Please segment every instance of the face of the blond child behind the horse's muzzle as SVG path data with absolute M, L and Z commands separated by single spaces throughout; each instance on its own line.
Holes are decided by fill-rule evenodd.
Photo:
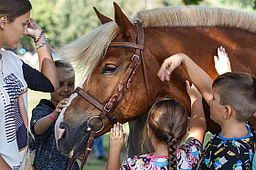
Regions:
M 59 77 L 59 88 L 50 94 L 53 105 L 58 105 L 64 98 L 69 98 L 72 90 L 74 90 L 75 77 L 70 77 L 70 72 L 65 69 L 57 68 Z

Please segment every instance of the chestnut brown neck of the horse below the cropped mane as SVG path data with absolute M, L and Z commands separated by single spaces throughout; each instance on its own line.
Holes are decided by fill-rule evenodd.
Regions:
M 179 66 L 172 74 L 170 83 L 157 79 L 157 71 L 165 58 L 184 53 L 215 79 L 218 74 L 213 56 L 223 45 L 229 53 L 232 71 L 256 74 L 256 34 L 235 27 L 193 26 L 145 28 L 144 57 L 150 82 L 155 84 L 155 97 L 172 95 L 177 100 L 189 104 L 185 81 L 189 79 L 185 70 Z M 250 54 L 248 54 L 250 52 Z M 248 62 L 246 62 L 248 61 Z M 247 66 L 246 66 L 247 65 Z M 187 105 L 189 107 L 189 105 Z

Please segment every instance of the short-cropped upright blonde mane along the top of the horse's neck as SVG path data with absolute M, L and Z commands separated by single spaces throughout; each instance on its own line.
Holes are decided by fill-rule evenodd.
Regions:
M 256 15 L 224 8 L 190 6 L 170 6 L 138 12 L 134 22 L 144 27 L 162 26 L 229 26 L 256 32 Z

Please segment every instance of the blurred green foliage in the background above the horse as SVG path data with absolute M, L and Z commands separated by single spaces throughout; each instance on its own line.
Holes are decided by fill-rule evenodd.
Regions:
M 114 18 L 111 0 L 30 0 L 31 17 L 46 31 L 51 46 L 60 47 L 86 35 L 100 25 L 93 6 L 103 15 Z M 239 9 L 255 13 L 256 0 L 115 0 L 123 13 L 133 17 L 138 11 L 169 5 L 203 5 Z M 24 37 L 19 44 L 27 50 L 35 49 L 31 38 Z

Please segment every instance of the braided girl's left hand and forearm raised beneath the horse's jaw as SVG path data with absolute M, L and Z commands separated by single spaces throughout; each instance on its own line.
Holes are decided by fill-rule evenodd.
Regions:
M 110 151 L 106 170 L 120 169 L 120 153 L 126 141 L 127 136 L 123 134 L 123 125 L 119 123 L 113 125 L 110 132 Z

